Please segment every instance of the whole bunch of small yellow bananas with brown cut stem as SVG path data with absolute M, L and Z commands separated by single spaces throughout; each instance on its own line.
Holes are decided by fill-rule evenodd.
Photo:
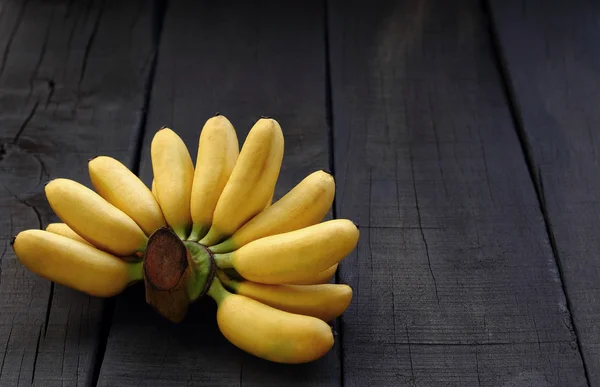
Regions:
M 142 281 L 152 283 L 149 303 L 148 292 L 177 286 L 186 302 L 208 294 L 219 329 L 242 350 L 280 363 L 318 359 L 334 344 L 328 322 L 352 298 L 349 286 L 329 282 L 359 231 L 347 219 L 323 221 L 335 194 L 324 170 L 272 203 L 283 150 L 276 120 L 259 119 L 240 150 L 230 121 L 216 115 L 194 166 L 182 139 L 162 128 L 151 143 L 151 187 L 119 161 L 93 158 L 94 190 L 50 181 L 46 197 L 62 223 L 20 232 L 13 249 L 37 275 L 96 297 Z M 175 245 L 158 237 L 165 230 Z

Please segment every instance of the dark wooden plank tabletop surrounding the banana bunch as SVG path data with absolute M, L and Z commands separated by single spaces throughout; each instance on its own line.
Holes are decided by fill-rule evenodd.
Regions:
M 285 3 L 285 4 L 282 4 Z M 0 2 L 0 386 L 600 386 L 600 3 Z M 270 115 L 276 199 L 328 168 L 361 228 L 334 350 L 229 344 L 142 286 L 90 298 L 11 236 L 57 221 L 44 183 L 110 155 L 149 184 L 163 125 L 195 158 L 214 112 Z M 598 156 L 600 157 L 600 156 Z

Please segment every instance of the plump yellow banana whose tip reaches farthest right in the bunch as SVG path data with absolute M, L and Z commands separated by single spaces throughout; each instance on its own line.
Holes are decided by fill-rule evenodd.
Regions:
M 354 249 L 358 237 L 354 223 L 334 219 L 266 236 L 233 252 L 215 254 L 214 258 L 220 268 L 233 268 L 253 282 L 305 281 L 341 261 Z

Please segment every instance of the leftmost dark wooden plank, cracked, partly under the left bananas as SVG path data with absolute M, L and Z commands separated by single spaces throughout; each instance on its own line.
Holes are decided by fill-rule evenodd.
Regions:
M 57 221 L 44 183 L 131 163 L 151 56 L 142 1 L 0 4 L 0 385 L 93 381 L 103 301 L 26 270 L 10 237 Z

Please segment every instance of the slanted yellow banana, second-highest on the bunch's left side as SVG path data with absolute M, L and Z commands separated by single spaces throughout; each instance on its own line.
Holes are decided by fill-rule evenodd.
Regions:
M 46 184 L 45 191 L 56 215 L 99 249 L 128 256 L 146 248 L 148 237 L 140 226 L 83 184 L 54 179 Z

